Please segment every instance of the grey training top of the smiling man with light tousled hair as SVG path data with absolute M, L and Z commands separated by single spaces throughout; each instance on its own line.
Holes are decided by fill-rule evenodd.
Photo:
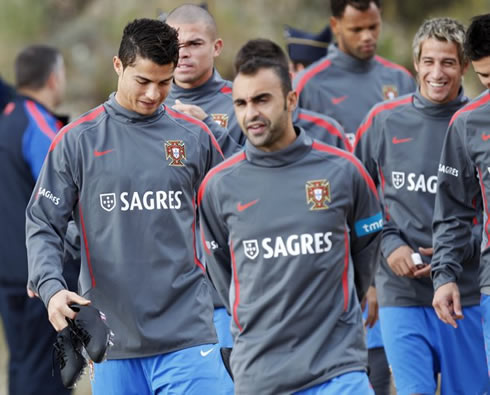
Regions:
M 384 203 L 382 254 L 408 245 L 432 247 L 432 216 L 439 157 L 454 113 L 468 102 L 462 92 L 435 104 L 419 91 L 375 106 L 360 126 L 354 152 L 373 177 Z M 430 257 L 422 257 L 430 263 Z M 479 303 L 478 261 L 460 278 L 462 302 Z M 397 276 L 382 259 L 376 272 L 381 306 L 432 306 L 429 278 Z

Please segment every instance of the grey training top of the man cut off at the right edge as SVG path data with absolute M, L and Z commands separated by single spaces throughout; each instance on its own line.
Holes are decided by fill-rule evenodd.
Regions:
M 478 258 L 481 239 L 480 286 L 490 287 L 490 91 L 459 110 L 451 120 L 442 149 L 434 212 L 434 288 L 467 274 L 476 279 L 468 261 Z M 475 200 L 483 200 L 483 232 L 475 235 Z

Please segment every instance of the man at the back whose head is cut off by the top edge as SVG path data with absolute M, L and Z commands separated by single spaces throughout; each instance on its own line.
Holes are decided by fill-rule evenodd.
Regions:
M 327 114 L 353 138 L 376 103 L 415 91 L 403 67 L 376 55 L 381 0 L 331 0 L 330 28 L 337 43 L 298 74 L 299 106 Z

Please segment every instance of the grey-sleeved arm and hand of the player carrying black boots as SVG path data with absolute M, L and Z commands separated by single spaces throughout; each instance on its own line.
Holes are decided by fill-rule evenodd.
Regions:
M 57 330 L 67 325 L 65 317 L 75 317 L 69 304 L 89 302 L 67 291 L 62 275 L 64 235 L 78 196 L 69 165 L 75 156 L 63 152 L 64 146 L 60 143 L 46 157 L 26 210 L 28 287 L 39 294 Z

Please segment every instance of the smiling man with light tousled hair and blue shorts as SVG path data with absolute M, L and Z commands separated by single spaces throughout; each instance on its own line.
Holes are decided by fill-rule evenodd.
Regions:
M 413 40 L 419 89 L 376 105 L 356 135 L 355 153 L 385 204 L 376 288 L 398 394 L 435 393 L 437 373 L 444 393 L 483 393 L 488 382 L 478 256 L 464 261 L 459 278 L 466 319 L 457 330 L 437 319 L 428 277 L 439 156 L 451 117 L 468 103 L 461 87 L 468 67 L 463 40 L 464 27 L 453 19 L 425 21 Z

